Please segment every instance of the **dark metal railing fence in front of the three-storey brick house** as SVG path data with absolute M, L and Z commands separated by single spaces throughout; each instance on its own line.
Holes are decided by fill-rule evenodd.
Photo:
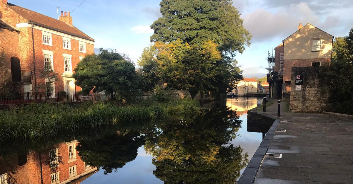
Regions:
M 55 103 L 55 102 L 82 102 L 110 100 L 110 95 L 105 93 L 91 93 L 83 95 L 80 92 L 27 92 L 15 94 L 0 94 L 0 104 L 24 104 L 24 103 Z

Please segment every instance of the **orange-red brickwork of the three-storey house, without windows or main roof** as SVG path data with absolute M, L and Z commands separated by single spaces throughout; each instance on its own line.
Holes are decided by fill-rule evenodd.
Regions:
M 7 5 L 2 3 L 2 1 L 0 1 L 0 18 L 13 27 L 16 27 L 18 23 L 28 22 L 28 20 L 19 16 L 15 11 L 13 11 L 13 9 L 9 8 Z M 71 39 L 71 50 L 63 49 L 62 36 L 56 34 L 52 34 L 53 46 L 43 45 L 42 31 L 34 29 L 33 34 L 36 66 L 36 71 L 34 71 L 32 28 L 20 27 L 18 28 L 18 30 L 20 31 L 20 33 L 15 36 L 14 33 L 16 32 L 9 34 L 7 33 L 7 30 L 3 31 L 2 29 L 0 29 L 0 42 L 6 42 L 5 44 L 0 43 L 0 49 L 3 47 L 5 52 L 8 53 L 9 57 L 10 55 L 11 57 L 16 55 L 16 57 L 20 59 L 21 70 L 32 71 L 32 73 L 37 76 L 37 84 L 45 83 L 44 79 L 38 77 L 38 75 L 41 71 L 43 71 L 44 68 L 44 58 L 42 50 L 53 51 L 54 71 L 59 73 L 59 81 L 55 82 L 56 92 L 64 90 L 64 81 L 63 77 L 61 76 L 64 73 L 64 56 L 62 56 L 62 54 L 66 53 L 72 55 L 72 70 L 74 70 L 77 63 L 79 62 L 79 57 L 84 57 L 87 54 L 94 53 L 94 45 L 88 43 L 86 43 L 86 53 L 79 52 L 79 41 L 74 39 Z M 10 65 L 9 69 L 11 69 Z M 33 79 L 32 81 L 32 88 L 34 88 L 34 81 L 35 79 Z M 81 88 L 76 87 L 76 91 L 79 90 L 81 90 Z

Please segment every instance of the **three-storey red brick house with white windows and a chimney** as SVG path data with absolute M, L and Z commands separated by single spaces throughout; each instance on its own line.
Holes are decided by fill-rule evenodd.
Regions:
M 94 39 L 72 23 L 70 12 L 61 12 L 57 20 L 0 0 L 0 51 L 6 53 L 12 80 L 21 84 L 19 91 L 46 84 L 39 77 L 44 68 L 59 74 L 52 85 L 55 92 L 80 90 L 74 84 L 73 69 L 85 55 L 94 53 Z

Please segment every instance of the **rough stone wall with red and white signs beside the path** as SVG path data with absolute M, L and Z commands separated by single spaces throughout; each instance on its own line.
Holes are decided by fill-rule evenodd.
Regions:
M 291 102 L 292 112 L 321 112 L 326 108 L 329 97 L 328 86 L 320 84 L 318 77 L 320 67 L 293 67 L 291 81 Z M 296 90 L 296 75 L 303 75 L 301 91 Z

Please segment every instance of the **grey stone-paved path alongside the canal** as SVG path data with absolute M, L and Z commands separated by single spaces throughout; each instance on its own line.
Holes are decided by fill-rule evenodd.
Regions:
M 272 99 L 271 99 L 272 100 Z M 256 176 L 256 184 L 353 184 L 353 118 L 319 113 L 288 113 L 282 102 L 281 120 Z M 267 108 L 277 115 L 277 103 Z

